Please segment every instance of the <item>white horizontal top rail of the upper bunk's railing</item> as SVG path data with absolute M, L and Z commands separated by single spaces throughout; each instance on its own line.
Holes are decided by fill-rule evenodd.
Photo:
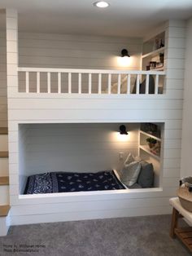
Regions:
M 155 70 L 113 70 L 113 69 L 77 69 L 77 68 L 24 68 L 19 67 L 19 72 L 45 72 L 45 73 L 103 73 L 103 74 L 141 74 L 165 75 L 164 71 Z

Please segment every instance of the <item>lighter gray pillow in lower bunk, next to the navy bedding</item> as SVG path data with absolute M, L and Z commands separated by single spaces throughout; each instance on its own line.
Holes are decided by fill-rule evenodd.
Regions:
M 130 187 L 137 182 L 138 174 L 141 170 L 141 164 L 137 161 L 129 163 L 129 165 L 124 165 L 123 170 L 119 171 L 120 180 L 126 186 Z

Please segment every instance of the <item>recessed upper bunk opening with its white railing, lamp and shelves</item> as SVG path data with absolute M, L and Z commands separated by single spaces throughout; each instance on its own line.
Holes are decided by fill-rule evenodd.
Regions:
M 43 38 L 42 35 L 38 37 Z M 94 95 L 102 99 L 104 95 L 105 99 L 111 96 L 135 99 L 135 95 L 151 95 L 155 99 L 165 93 L 164 32 L 146 42 L 141 38 L 105 37 L 81 37 L 74 42 L 74 36 L 55 37 L 53 41 L 46 35 L 52 43 L 46 42 L 47 49 L 41 48 L 37 35 L 29 35 L 35 44 L 33 47 L 26 42 L 27 38 L 28 35 L 23 34 L 19 40 L 18 92 L 22 97 L 28 94 L 33 98 L 49 97 L 51 94 L 51 97 Z M 85 42 L 88 40 L 92 42 Z M 110 51 L 106 49 L 109 42 Z M 129 51 L 123 49 L 120 56 L 119 47 L 123 45 L 128 45 Z M 91 47 L 94 47 L 92 52 Z

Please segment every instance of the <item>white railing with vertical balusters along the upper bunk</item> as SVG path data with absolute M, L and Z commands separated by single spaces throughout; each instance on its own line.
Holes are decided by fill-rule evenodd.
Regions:
M 76 82 L 76 86 L 78 86 L 78 89 L 76 91 L 76 93 L 79 94 L 83 94 L 83 75 L 82 74 L 86 74 L 88 76 L 88 92 L 85 93 L 89 93 L 89 95 L 92 94 L 92 92 L 95 92 L 95 90 L 98 90 L 98 94 L 100 95 L 102 93 L 102 90 L 105 89 L 106 93 L 108 95 L 111 94 L 111 90 L 112 90 L 112 86 L 113 86 L 113 75 L 117 77 L 117 82 L 116 82 L 116 94 L 120 95 L 122 92 L 124 92 L 125 94 L 131 94 L 131 90 L 132 90 L 132 78 L 136 77 L 136 86 L 134 86 L 134 89 L 136 87 L 135 93 L 137 95 L 140 94 L 140 81 L 141 78 L 143 76 L 145 76 L 145 80 L 146 80 L 146 84 L 145 84 L 145 90 L 144 93 L 146 95 L 149 95 L 150 93 L 150 89 L 151 89 L 151 76 L 154 77 L 155 80 L 155 95 L 158 95 L 159 93 L 161 93 L 159 91 L 160 89 L 164 89 L 163 92 L 165 92 L 165 88 L 164 88 L 164 81 L 163 78 L 166 76 L 165 72 L 155 72 L 155 71 L 118 71 L 118 70 L 92 70 L 92 69 L 69 69 L 69 68 L 18 68 L 18 72 L 22 73 L 22 75 L 24 76 L 22 79 L 22 82 L 24 82 L 24 91 L 26 93 L 29 93 L 31 88 L 31 73 L 33 73 L 33 75 L 35 76 L 35 91 L 38 93 L 41 93 L 41 73 L 43 73 L 43 75 L 45 74 L 46 76 L 46 91 L 47 93 L 51 93 L 52 90 L 54 88 L 52 88 L 53 85 L 51 85 L 52 82 L 52 77 L 51 77 L 51 73 L 57 73 L 57 82 L 56 82 L 56 92 L 61 94 L 62 93 L 62 82 L 63 82 L 63 73 L 67 76 L 67 93 L 71 94 L 72 93 L 72 89 L 73 89 L 73 84 L 72 84 L 72 74 L 75 73 L 76 76 L 78 76 L 78 82 Z M 94 80 L 94 76 L 97 78 L 98 77 L 98 84 L 96 82 L 95 85 L 95 81 Z M 103 78 L 107 78 L 107 79 L 103 79 Z M 123 79 L 122 79 L 123 78 Z M 162 78 L 162 79 L 161 79 Z M 165 78 L 164 78 L 165 79 Z M 19 80 L 20 82 L 20 80 Z M 34 81 L 33 81 L 34 82 Z M 104 85 L 103 82 L 106 82 L 106 84 Z M 122 82 L 123 82 L 123 87 L 122 87 Z M 94 86 L 94 87 L 93 87 Z M 105 86 L 105 88 L 103 88 L 103 86 Z M 161 87 L 159 87 L 161 86 Z M 96 87 L 96 88 L 95 88 Z M 94 89 L 94 91 L 93 91 Z M 19 85 L 19 90 L 20 90 L 20 85 Z M 34 91 L 34 90 L 33 90 Z

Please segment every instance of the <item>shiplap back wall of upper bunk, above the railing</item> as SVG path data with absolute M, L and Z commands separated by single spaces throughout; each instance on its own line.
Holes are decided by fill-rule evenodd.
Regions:
M 19 33 L 19 65 L 42 68 L 122 69 L 124 48 L 131 55 L 128 67 L 141 68 L 142 39 Z

